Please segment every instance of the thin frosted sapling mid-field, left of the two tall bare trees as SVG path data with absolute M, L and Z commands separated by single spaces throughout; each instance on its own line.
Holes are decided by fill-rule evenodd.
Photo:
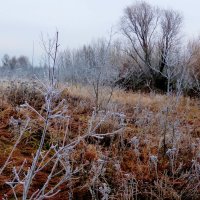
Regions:
M 102 102 L 106 99 L 105 96 L 103 97 L 106 90 L 109 90 L 107 91 L 109 92 L 107 99 L 109 102 L 114 88 L 112 84 L 113 77 L 111 76 L 114 70 L 112 70 L 112 64 L 109 59 L 111 53 L 111 38 L 109 41 L 98 40 L 92 46 L 89 46 L 86 52 L 86 61 L 89 66 L 88 70 L 90 71 L 90 76 L 87 77 L 87 81 L 93 88 L 92 93 L 94 95 L 95 107 L 99 110 Z

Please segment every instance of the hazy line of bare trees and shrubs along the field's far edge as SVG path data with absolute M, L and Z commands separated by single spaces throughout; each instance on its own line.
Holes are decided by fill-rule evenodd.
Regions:
M 136 2 L 125 8 L 119 34 L 59 52 L 56 79 L 81 84 L 114 85 L 129 90 L 200 94 L 200 40 L 183 37 L 183 17 L 174 10 Z M 45 44 L 52 47 L 52 44 Z M 49 49 L 49 48 L 46 48 Z M 51 61 L 33 67 L 25 57 L 2 60 L 4 71 L 22 70 L 48 77 Z M 19 74 L 19 72 L 18 72 Z

